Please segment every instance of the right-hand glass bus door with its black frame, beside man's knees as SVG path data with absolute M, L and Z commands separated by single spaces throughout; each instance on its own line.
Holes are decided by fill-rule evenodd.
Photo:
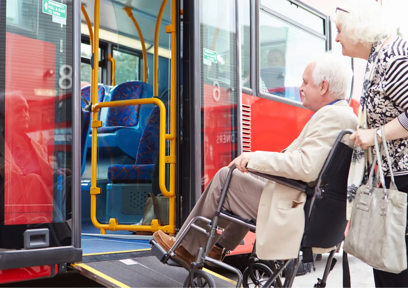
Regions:
M 183 41 L 194 49 L 184 51 L 186 87 L 183 88 L 183 96 L 189 98 L 189 102 L 195 101 L 197 108 L 191 109 L 190 113 L 194 114 L 191 113 L 190 118 L 184 113 L 183 121 L 184 118 L 186 120 L 183 122 L 183 130 L 200 133 L 188 137 L 192 139 L 190 147 L 191 151 L 195 149 L 196 163 L 195 167 L 191 167 L 191 172 L 184 171 L 190 179 L 195 177 L 195 183 L 198 183 L 198 186 L 190 188 L 194 201 L 198 200 L 215 173 L 228 165 L 240 152 L 238 111 L 241 91 L 237 69 L 235 2 L 200 0 L 184 7 L 184 24 L 188 21 L 189 25 L 184 26 Z M 199 9 L 194 5 L 198 5 Z M 195 11 L 200 13 L 196 15 Z M 194 35 L 188 32 L 197 29 L 199 33 Z M 196 77 L 191 78 L 190 75 Z M 191 99 L 192 95 L 194 99 Z M 193 129 L 186 129 L 192 125 L 189 123 L 196 123 L 191 127 Z M 197 151 L 195 147 L 197 139 L 200 141 L 201 151 Z M 189 161 L 186 159 L 187 163 Z M 182 169 L 189 167 L 184 163 L 181 166 Z M 188 188 L 183 187 L 184 189 Z M 191 204 L 190 209 L 194 203 Z

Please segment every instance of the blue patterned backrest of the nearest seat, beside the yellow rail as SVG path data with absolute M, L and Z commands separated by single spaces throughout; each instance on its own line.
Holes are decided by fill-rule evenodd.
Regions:
M 166 133 L 169 133 L 169 121 L 167 119 L 167 115 L 170 113 L 170 107 L 168 103 L 164 103 L 164 106 L 166 107 Z M 135 164 L 154 164 L 156 156 L 159 152 L 159 141 L 160 108 L 159 106 L 155 105 L 150 113 L 149 120 L 144 127 L 142 137 L 140 138 Z

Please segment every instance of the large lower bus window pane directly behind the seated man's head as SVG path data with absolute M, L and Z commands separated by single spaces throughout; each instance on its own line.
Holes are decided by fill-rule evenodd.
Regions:
M 304 68 L 315 56 L 325 51 L 326 38 L 259 11 L 261 93 L 301 101 L 298 87 L 302 82 Z

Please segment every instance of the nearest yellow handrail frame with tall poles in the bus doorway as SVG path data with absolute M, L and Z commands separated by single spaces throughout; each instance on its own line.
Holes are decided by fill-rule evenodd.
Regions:
M 106 234 L 106 230 L 116 231 L 116 230 L 137 230 L 137 231 L 157 231 L 163 230 L 167 233 L 175 233 L 175 109 L 171 109 L 171 133 L 166 134 L 166 108 L 162 100 L 158 98 L 142 98 L 142 99 L 131 99 L 131 100 L 121 100 L 121 101 L 108 101 L 98 103 L 98 59 L 99 59 L 99 7 L 100 0 L 95 0 L 95 20 L 94 20 L 94 69 L 93 69 L 93 83 L 91 83 L 91 88 L 93 91 L 93 106 L 92 106 L 92 148 L 91 148 L 91 221 L 95 227 L 100 229 L 101 234 Z M 172 33 L 171 45 L 172 45 L 172 63 L 171 63 L 171 103 L 175 103 L 175 89 L 176 89 L 176 31 L 175 31 L 175 1 L 173 1 L 173 11 L 172 11 L 172 25 L 169 25 L 169 30 L 167 32 Z M 155 84 L 157 87 L 157 66 L 158 66 L 158 32 L 160 30 L 160 22 L 162 19 L 164 7 L 166 6 L 167 0 L 163 0 L 162 6 L 160 7 L 159 16 L 156 22 L 155 33 Z M 159 24 L 157 24 L 159 23 Z M 157 95 L 157 91 L 156 94 Z M 162 194 L 169 198 L 169 225 L 160 226 L 157 219 L 154 219 L 151 225 L 119 225 L 118 220 L 111 218 L 109 224 L 101 224 L 98 222 L 96 216 L 96 196 L 101 193 L 101 189 L 97 187 L 97 152 L 98 152 L 98 127 L 102 126 L 102 122 L 98 121 L 98 111 L 105 107 L 120 107 L 129 105 L 144 105 L 144 104 L 156 104 L 160 109 L 160 140 L 159 140 L 159 186 Z M 170 155 L 165 156 L 165 145 L 166 140 L 170 140 Z M 166 189 L 165 183 L 165 163 L 170 164 L 170 185 L 169 191 Z

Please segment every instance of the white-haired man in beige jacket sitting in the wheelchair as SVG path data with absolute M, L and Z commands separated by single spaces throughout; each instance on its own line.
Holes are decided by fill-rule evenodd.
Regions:
M 282 152 L 244 152 L 228 167 L 215 174 L 211 183 L 198 200 L 180 232 L 196 216 L 212 218 L 224 186 L 229 167 L 237 166 L 226 194 L 223 210 L 251 220 L 257 219 L 257 255 L 261 259 L 293 259 L 297 257 L 304 232 L 304 203 L 306 195 L 273 181 L 265 183 L 246 171 L 283 176 L 313 183 L 333 147 L 335 139 L 344 129 L 356 129 L 357 116 L 345 100 L 348 98 L 352 71 L 342 59 L 327 53 L 310 63 L 303 74 L 300 92 L 303 105 L 315 112 L 300 135 Z M 276 137 L 279 135 L 275 135 Z M 273 137 L 275 137 L 273 136 Z M 351 141 L 346 141 L 351 145 Z M 273 141 L 273 138 L 271 138 Z M 236 223 L 220 219 L 218 225 L 225 228 L 216 234 L 209 257 L 221 259 L 225 249 L 235 249 L 244 239 L 248 229 Z M 206 225 L 202 225 L 207 228 Z M 163 248 L 170 249 L 175 237 L 157 231 L 153 238 Z M 178 261 L 188 269 L 199 247 L 205 246 L 207 236 L 190 230 L 176 250 Z M 314 253 L 322 250 L 313 249 Z

